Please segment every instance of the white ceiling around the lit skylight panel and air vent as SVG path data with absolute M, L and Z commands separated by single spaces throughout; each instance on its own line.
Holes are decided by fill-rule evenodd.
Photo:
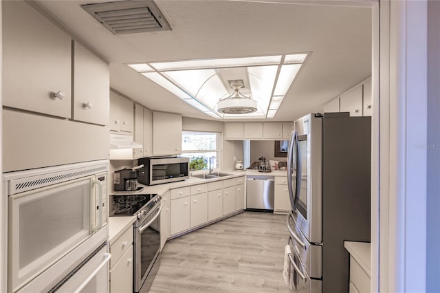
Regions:
M 153 110 L 213 119 L 126 63 L 311 52 L 274 121 L 322 111 L 325 102 L 371 76 L 368 7 L 304 4 L 322 1 L 159 0 L 155 3 L 173 30 L 113 35 L 80 8 L 108 0 L 38 2 L 109 61 L 113 89 Z

